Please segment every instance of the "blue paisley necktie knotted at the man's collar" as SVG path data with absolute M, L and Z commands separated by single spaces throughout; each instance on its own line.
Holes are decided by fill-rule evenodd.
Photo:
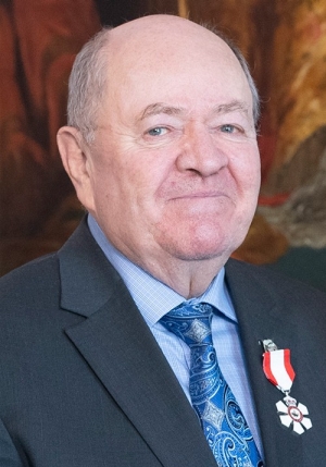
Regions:
M 184 303 L 161 318 L 190 347 L 190 396 L 218 467 L 263 467 L 251 431 L 213 346 L 209 304 Z

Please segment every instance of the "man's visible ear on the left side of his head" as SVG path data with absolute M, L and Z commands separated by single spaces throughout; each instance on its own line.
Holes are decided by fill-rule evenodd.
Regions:
M 57 135 L 63 167 L 73 182 L 79 201 L 89 211 L 93 208 L 93 193 L 90 173 L 90 151 L 78 130 L 63 126 Z

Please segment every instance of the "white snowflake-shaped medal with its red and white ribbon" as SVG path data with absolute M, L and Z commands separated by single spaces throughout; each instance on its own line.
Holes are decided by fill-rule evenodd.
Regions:
M 276 404 L 281 425 L 292 428 L 297 434 L 302 434 L 312 427 L 305 405 L 297 403 L 290 396 L 296 377 L 290 360 L 290 349 L 278 349 L 269 339 L 262 341 L 264 347 L 263 370 L 267 380 L 285 394 L 283 401 Z

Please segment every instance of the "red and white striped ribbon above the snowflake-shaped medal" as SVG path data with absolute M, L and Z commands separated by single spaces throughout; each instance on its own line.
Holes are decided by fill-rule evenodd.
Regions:
M 263 370 L 268 381 L 284 393 L 289 393 L 296 377 L 290 361 L 290 349 L 265 352 Z

